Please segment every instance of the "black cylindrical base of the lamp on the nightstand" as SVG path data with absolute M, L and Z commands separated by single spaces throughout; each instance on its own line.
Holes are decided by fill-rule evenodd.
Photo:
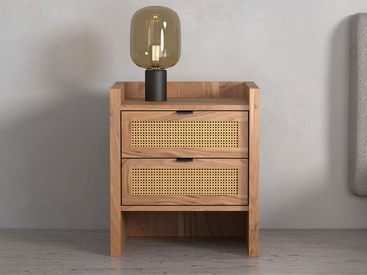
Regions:
M 146 101 L 167 100 L 166 70 L 145 71 L 145 100 Z

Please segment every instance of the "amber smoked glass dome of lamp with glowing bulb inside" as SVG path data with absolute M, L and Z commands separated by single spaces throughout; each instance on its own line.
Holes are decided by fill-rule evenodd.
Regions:
M 181 55 L 181 26 L 173 10 L 151 6 L 138 10 L 130 25 L 130 56 L 139 67 L 163 70 Z

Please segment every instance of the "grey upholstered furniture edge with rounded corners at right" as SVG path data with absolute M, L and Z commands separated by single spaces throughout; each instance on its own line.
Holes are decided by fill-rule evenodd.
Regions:
M 352 194 L 367 196 L 367 13 L 350 29 L 349 181 Z

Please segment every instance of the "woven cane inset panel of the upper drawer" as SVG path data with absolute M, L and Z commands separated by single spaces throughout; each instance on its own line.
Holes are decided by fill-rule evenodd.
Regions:
M 238 147 L 238 122 L 133 121 L 132 147 Z

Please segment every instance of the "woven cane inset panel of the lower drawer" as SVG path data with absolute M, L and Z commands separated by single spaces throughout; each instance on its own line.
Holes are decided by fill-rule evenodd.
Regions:
M 238 169 L 132 169 L 132 195 L 238 195 Z

